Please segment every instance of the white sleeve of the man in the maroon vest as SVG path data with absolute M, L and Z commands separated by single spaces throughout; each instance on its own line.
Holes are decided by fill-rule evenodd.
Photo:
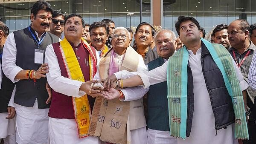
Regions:
M 45 63 L 48 63 L 49 65 L 49 72 L 46 74 L 48 84 L 55 92 L 77 98 L 85 95 L 84 91 L 79 91 L 83 82 L 71 80 L 61 75 L 61 69 L 58 65 L 58 59 L 52 45 L 49 45 L 46 48 Z

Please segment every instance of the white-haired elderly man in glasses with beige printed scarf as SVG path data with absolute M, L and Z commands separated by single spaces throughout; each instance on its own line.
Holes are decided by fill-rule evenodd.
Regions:
M 143 58 L 130 46 L 131 35 L 126 28 L 117 27 L 111 42 L 113 48 L 99 61 L 94 79 L 104 80 L 123 69 L 129 72 L 146 70 Z M 96 98 L 89 134 L 113 144 L 146 144 L 142 97 L 147 89 L 134 87 L 117 92 L 121 93 L 122 97 L 111 101 L 103 97 Z

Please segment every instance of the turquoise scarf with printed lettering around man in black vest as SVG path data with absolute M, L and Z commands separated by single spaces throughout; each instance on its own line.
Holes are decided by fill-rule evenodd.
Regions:
M 202 38 L 201 41 L 205 44 L 220 69 L 227 91 L 233 101 L 235 137 L 249 139 L 243 95 L 230 53 L 217 44 L 211 44 Z M 170 135 L 183 139 L 186 138 L 188 61 L 189 53 L 186 46 L 183 46 L 169 58 L 167 72 Z

